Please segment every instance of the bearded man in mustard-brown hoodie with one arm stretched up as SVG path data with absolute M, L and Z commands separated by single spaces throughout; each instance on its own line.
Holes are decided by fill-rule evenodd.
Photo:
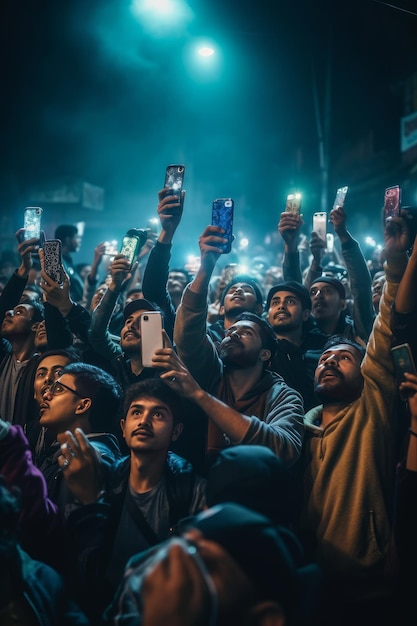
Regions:
M 365 358 L 359 343 L 332 337 L 315 373 L 322 405 L 304 419 L 299 530 L 326 578 L 323 624 L 395 621 L 384 621 L 395 607 L 386 572 L 399 427 L 390 319 L 408 239 L 402 218 L 385 227 L 386 283 Z

